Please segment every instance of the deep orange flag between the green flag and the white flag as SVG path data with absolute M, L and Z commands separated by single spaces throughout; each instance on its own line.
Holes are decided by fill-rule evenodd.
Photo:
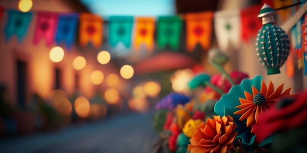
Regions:
M 189 13 L 186 20 L 186 49 L 192 52 L 199 43 L 204 50 L 209 49 L 212 34 L 213 12 Z

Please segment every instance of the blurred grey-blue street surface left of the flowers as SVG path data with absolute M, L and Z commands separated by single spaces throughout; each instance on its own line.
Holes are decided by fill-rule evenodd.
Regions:
M 157 134 L 153 112 L 118 114 L 103 121 L 71 125 L 0 140 L 0 153 L 152 153 Z

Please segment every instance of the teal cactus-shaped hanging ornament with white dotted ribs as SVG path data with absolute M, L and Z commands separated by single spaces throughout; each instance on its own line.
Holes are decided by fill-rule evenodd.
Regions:
M 262 18 L 262 27 L 256 37 L 257 56 L 267 74 L 281 73 L 280 68 L 290 53 L 290 41 L 287 33 L 274 24 L 273 15 L 276 11 L 264 4 L 258 18 Z

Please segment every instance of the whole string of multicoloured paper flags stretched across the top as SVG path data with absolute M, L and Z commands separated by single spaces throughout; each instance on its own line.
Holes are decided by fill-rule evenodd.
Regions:
M 281 25 L 285 31 L 289 31 L 299 22 L 299 19 L 307 11 L 305 0 L 295 3 L 292 3 L 292 0 L 291 3 L 290 0 L 283 0 L 281 6 L 277 4 L 276 0 L 261 0 L 261 2 L 276 6 L 278 8 L 275 10 L 279 11 L 302 5 L 293 17 Z M 197 44 L 200 44 L 203 50 L 208 50 L 213 29 L 219 47 L 221 50 L 227 51 L 229 43 L 237 48 L 240 42 L 248 42 L 250 38 L 255 38 L 256 29 L 261 23 L 260 19 L 256 18 L 258 11 L 259 4 L 255 4 L 242 10 L 189 13 L 157 18 L 111 16 L 109 20 L 104 20 L 102 17 L 91 13 L 48 11 L 23 13 L 0 6 L 0 19 L 3 16 L 3 12 L 8 14 L 4 32 L 7 41 L 13 35 L 16 35 L 21 43 L 27 34 L 31 19 L 35 16 L 37 20 L 33 44 L 38 44 L 44 39 L 47 46 L 55 42 L 56 44 L 65 44 L 70 49 L 74 44 L 76 34 L 78 34 L 78 44 L 80 46 L 86 46 L 91 43 L 96 48 L 100 48 L 103 41 L 103 26 L 108 24 L 108 41 L 111 46 L 116 46 L 119 42 L 122 42 L 126 47 L 130 47 L 130 44 L 133 44 L 134 49 L 139 50 L 141 45 L 145 45 L 149 51 L 153 50 L 154 41 L 156 41 L 159 49 L 169 45 L 173 50 L 178 50 L 182 24 L 185 23 L 186 50 L 188 52 L 192 52 Z M 290 13 L 290 11 L 284 12 Z M 78 32 L 77 27 L 79 27 Z M 299 48 L 300 45 L 295 44 L 296 48 Z

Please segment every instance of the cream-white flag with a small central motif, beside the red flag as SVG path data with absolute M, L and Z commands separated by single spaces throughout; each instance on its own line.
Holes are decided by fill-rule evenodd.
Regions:
M 241 36 L 240 10 L 217 11 L 214 14 L 214 31 L 219 48 L 227 51 L 228 43 L 238 48 Z

